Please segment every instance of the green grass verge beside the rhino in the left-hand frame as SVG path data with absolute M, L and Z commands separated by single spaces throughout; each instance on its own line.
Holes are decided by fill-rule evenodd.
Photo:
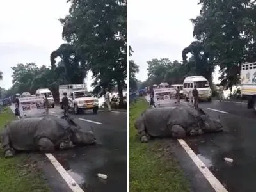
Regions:
M 0 131 L 15 116 L 9 108 L 0 111 Z M 5 159 L 0 147 L 0 189 L 4 192 L 46 192 L 50 191 L 42 173 L 27 154 L 17 154 L 12 159 Z

